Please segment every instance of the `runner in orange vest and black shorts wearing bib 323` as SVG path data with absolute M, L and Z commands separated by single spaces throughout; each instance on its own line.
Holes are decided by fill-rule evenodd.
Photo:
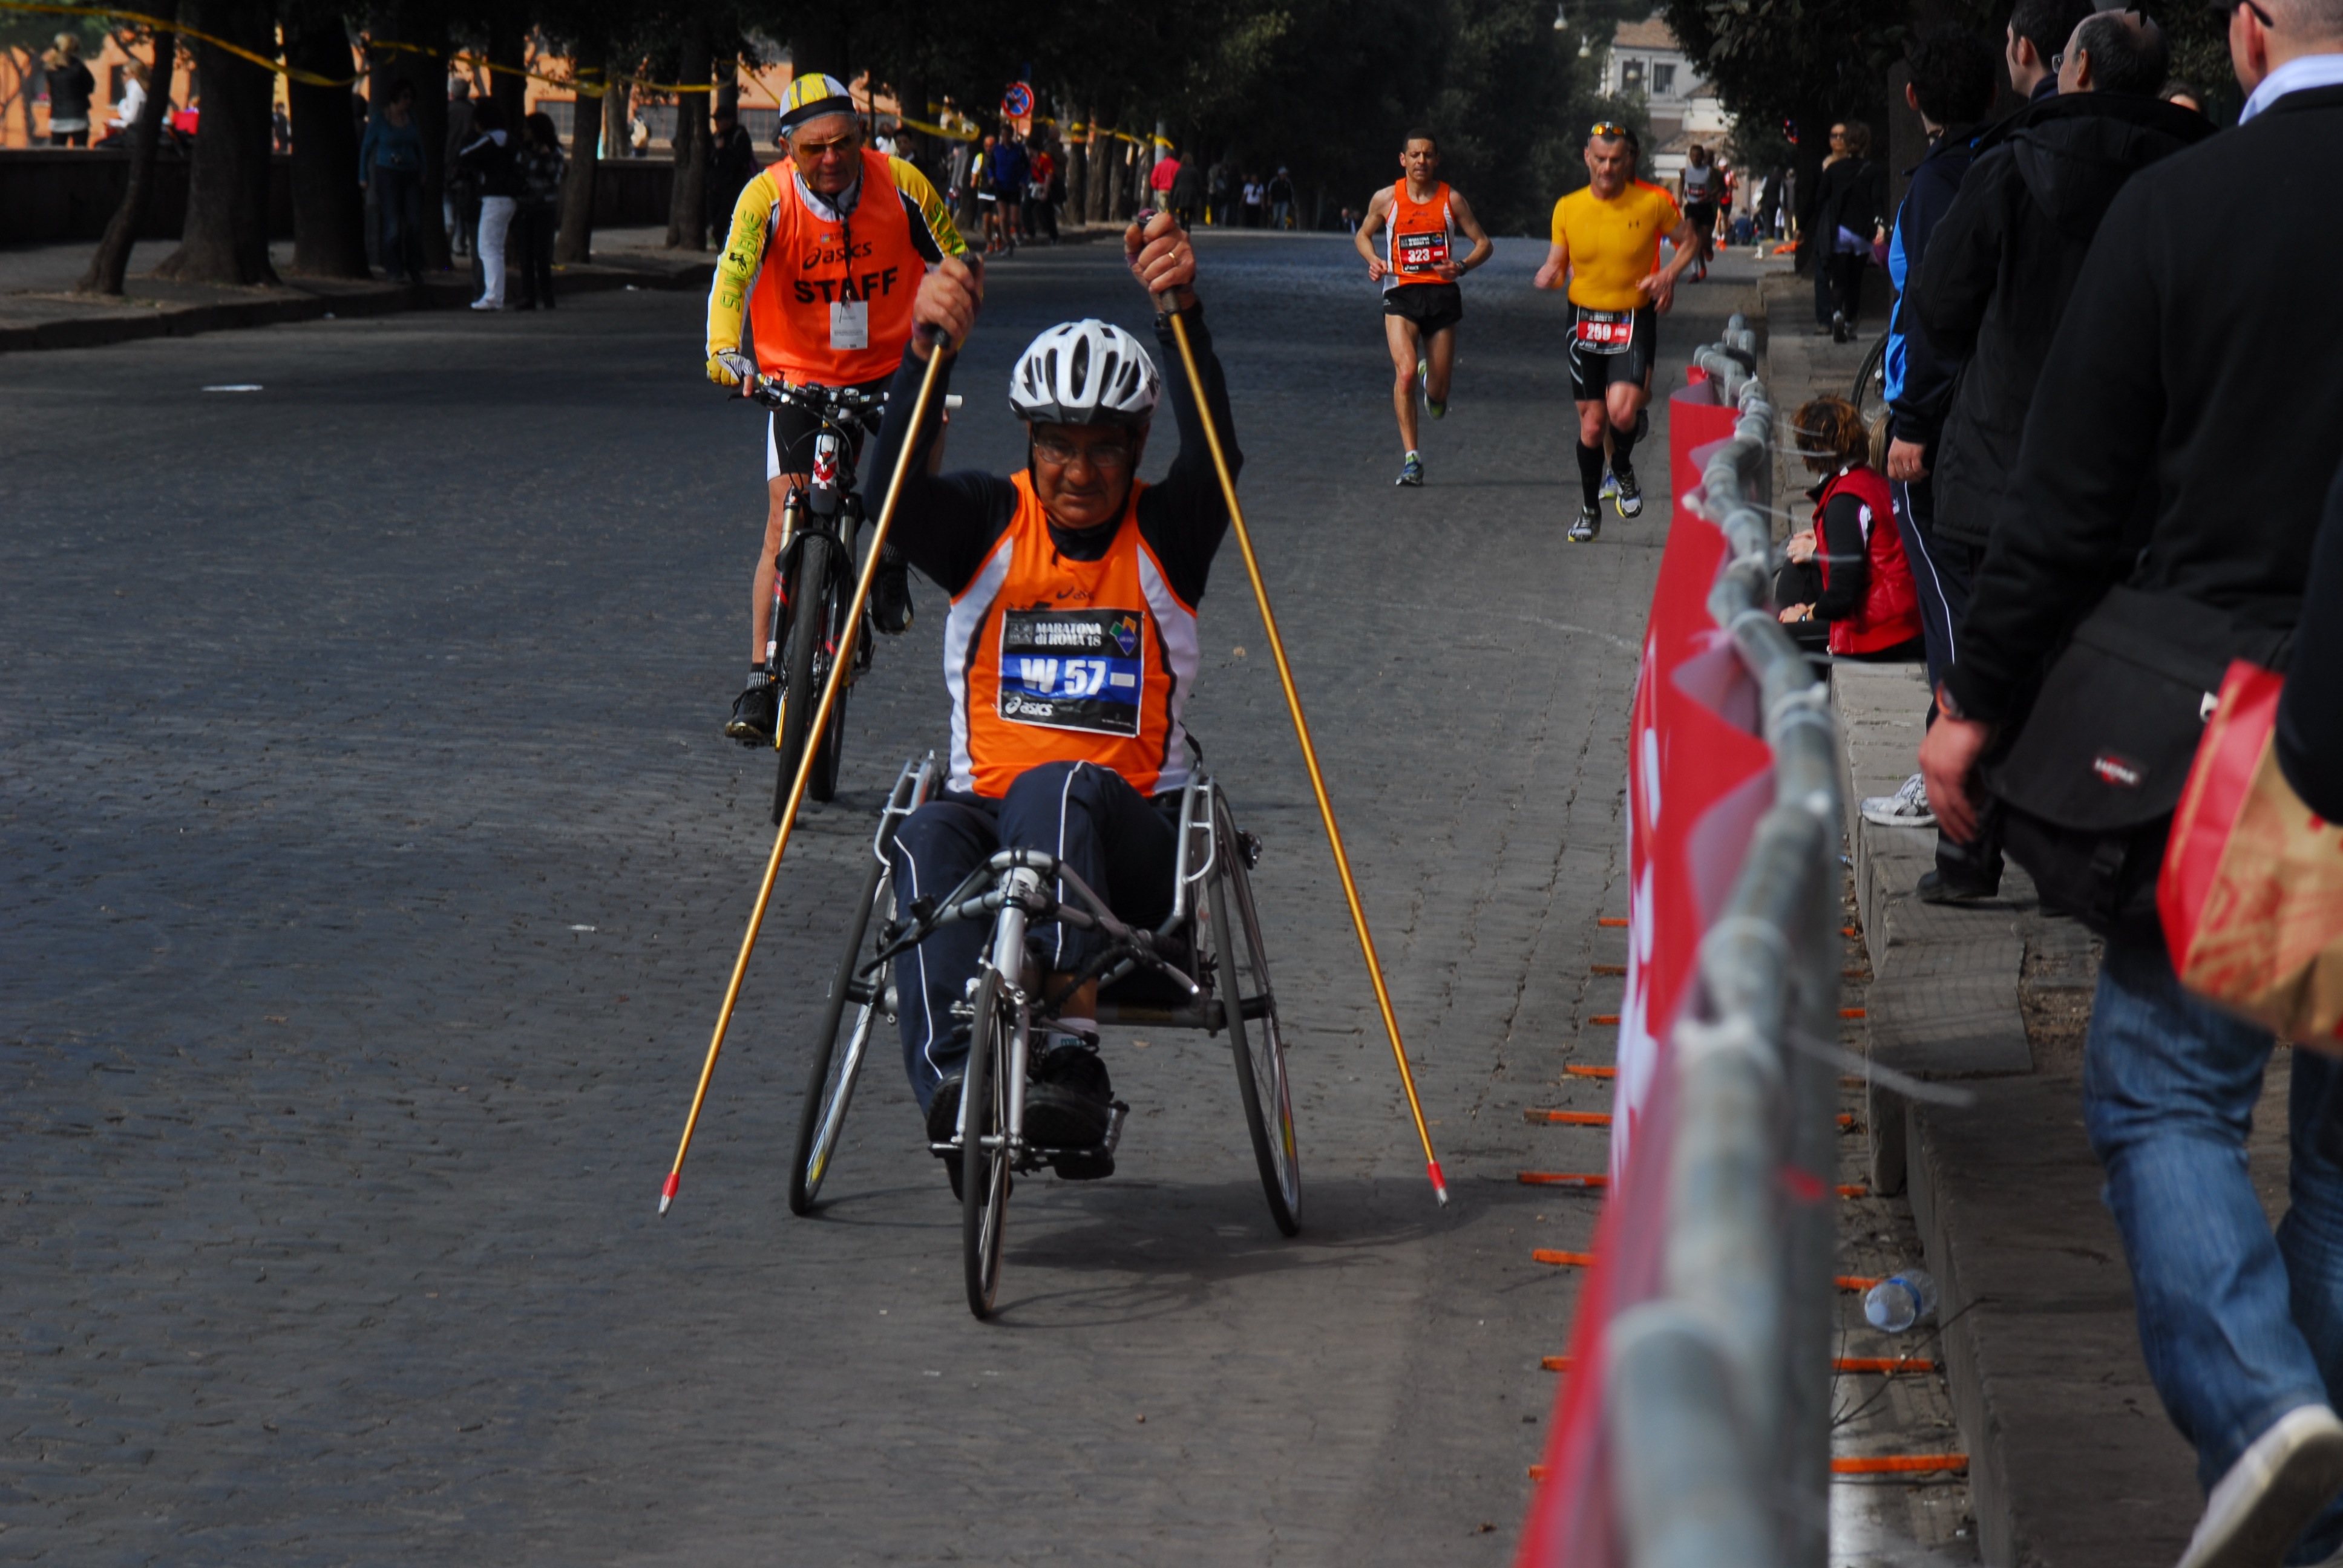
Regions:
M 1401 176 L 1366 204 L 1352 244 L 1366 258 L 1366 277 L 1382 284 L 1382 338 L 1392 345 L 1392 408 L 1399 410 L 1399 485 L 1425 483 L 1425 457 L 1415 450 L 1415 396 L 1434 420 L 1448 413 L 1448 370 L 1457 354 L 1457 321 L 1464 291 L 1457 279 L 1497 248 L 1481 232 L 1471 204 L 1441 183 L 1441 145 L 1432 131 L 1408 131 L 1399 143 Z M 1382 255 L 1375 255 L 1375 237 Z M 1455 255 L 1457 237 L 1471 239 Z

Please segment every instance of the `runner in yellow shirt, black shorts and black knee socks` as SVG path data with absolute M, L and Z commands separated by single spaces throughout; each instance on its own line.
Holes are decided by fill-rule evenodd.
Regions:
M 1603 532 L 1603 438 L 1619 485 L 1621 518 L 1642 513 L 1635 483 L 1635 441 L 1649 427 L 1652 359 L 1659 312 L 1675 300 L 1675 279 L 1701 253 L 1692 220 L 1675 197 L 1635 178 L 1635 131 L 1598 122 L 1586 134 L 1591 183 L 1553 204 L 1553 248 L 1537 270 L 1537 288 L 1570 277 L 1570 391 L 1579 405 L 1579 520 L 1570 539 L 1586 544 Z M 1675 258 L 1659 265 L 1659 241 Z

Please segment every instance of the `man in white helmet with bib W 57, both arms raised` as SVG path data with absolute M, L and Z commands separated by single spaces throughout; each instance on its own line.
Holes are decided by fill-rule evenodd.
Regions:
M 1195 312 L 1188 237 L 1172 213 L 1155 213 L 1125 232 L 1122 248 L 1141 286 L 1186 312 L 1235 471 L 1228 389 Z M 918 286 L 914 314 L 958 345 L 979 300 L 977 274 L 947 260 Z M 1172 359 L 1162 316 L 1155 338 Z M 904 354 L 874 452 L 874 471 L 893 473 L 902 443 L 914 441 L 893 537 L 951 595 L 951 778 L 895 837 L 897 916 L 947 895 L 1000 848 L 1045 848 L 1120 919 L 1157 926 L 1172 912 L 1179 792 L 1190 771 L 1181 710 L 1197 677 L 1195 607 L 1228 532 L 1195 398 L 1174 375 L 1179 457 L 1162 483 L 1141 483 L 1139 455 L 1162 391 L 1155 361 L 1120 326 L 1066 321 L 1036 338 L 1010 373 L 1026 469 L 930 476 L 921 457 L 937 434 L 937 405 L 916 434 L 909 429 L 930 352 L 918 338 Z M 937 375 L 937 398 L 949 377 L 951 361 Z M 930 1144 L 949 1141 L 958 1118 L 968 1024 L 951 1008 L 965 998 L 986 938 L 982 921 L 942 926 L 897 968 L 904 1071 Z M 1045 970 L 1043 998 L 1066 989 L 1097 952 L 1092 933 L 1059 923 L 1033 926 L 1029 942 Z M 1113 1085 L 1099 1059 L 1097 1005 L 1092 980 L 1036 1041 L 1024 1111 L 1036 1146 L 1092 1148 L 1106 1137 Z M 1108 1177 L 1113 1158 L 1068 1158 L 1057 1172 Z M 958 1165 L 949 1174 L 958 1191 Z

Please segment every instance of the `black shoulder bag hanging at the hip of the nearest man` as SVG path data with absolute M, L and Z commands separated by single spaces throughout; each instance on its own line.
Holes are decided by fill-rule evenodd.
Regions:
M 2156 874 L 2231 659 L 2280 668 L 2289 633 L 2177 593 L 2111 588 L 2050 661 L 1985 788 L 2043 907 L 2163 940 Z

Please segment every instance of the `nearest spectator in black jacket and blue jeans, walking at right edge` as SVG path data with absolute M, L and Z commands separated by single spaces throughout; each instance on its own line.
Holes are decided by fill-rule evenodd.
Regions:
M 2228 45 L 2245 122 L 2123 188 L 2050 345 L 1921 745 L 1954 837 L 1975 832 L 1994 729 L 2104 584 L 2221 612 L 2240 638 L 2303 619 L 2343 448 L 2343 377 L 2306 373 L 2343 342 L 2343 291 L 2301 260 L 2343 248 L 2343 2 L 2240 2 Z M 2209 1491 L 2181 1568 L 2343 1547 L 2343 1062 L 2291 1052 L 2291 1207 L 2273 1235 L 2245 1163 L 2270 1050 L 2181 989 L 2158 935 L 2109 940 L 2083 1109 L 2142 1350 Z

